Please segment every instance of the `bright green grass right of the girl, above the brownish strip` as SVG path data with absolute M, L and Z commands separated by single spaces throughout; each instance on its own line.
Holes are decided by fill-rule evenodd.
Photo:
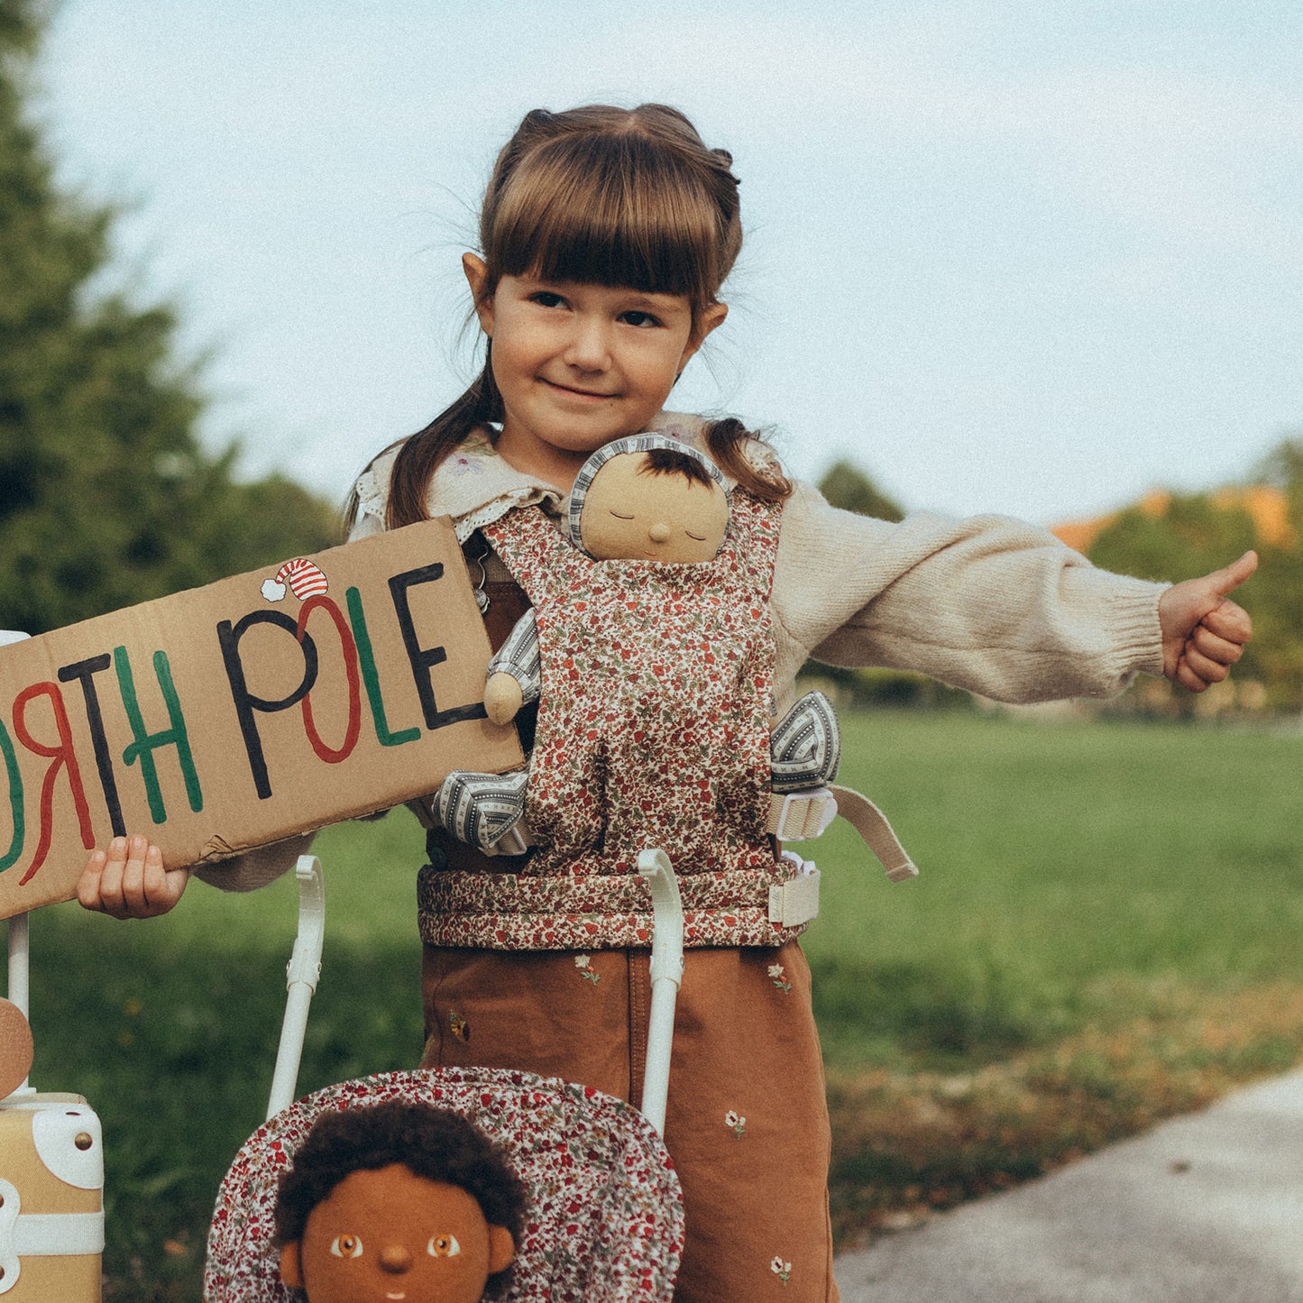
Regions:
M 1293 980 L 1303 736 L 980 715 L 844 721 L 840 780 L 923 869 L 835 825 L 807 949 L 834 1066 L 992 1058 L 1117 1012 L 1119 981 Z

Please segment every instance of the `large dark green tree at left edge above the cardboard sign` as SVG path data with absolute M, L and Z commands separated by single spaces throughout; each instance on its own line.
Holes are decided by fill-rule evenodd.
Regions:
M 0 627 L 43 632 L 326 546 L 332 512 L 240 485 L 195 435 L 168 305 L 96 292 L 111 206 L 60 193 L 25 96 L 33 0 L 0 0 Z M 275 512 L 251 517 L 268 487 Z

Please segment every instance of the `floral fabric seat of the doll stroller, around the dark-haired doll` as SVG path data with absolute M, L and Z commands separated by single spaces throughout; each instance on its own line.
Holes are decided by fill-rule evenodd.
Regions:
M 452 1109 L 502 1145 L 530 1195 L 509 1300 L 668 1299 L 683 1252 L 679 1178 L 632 1105 L 502 1068 L 387 1072 L 326 1087 L 245 1141 L 218 1194 L 206 1303 L 292 1303 L 272 1243 L 276 1186 L 322 1113 L 388 1100 Z

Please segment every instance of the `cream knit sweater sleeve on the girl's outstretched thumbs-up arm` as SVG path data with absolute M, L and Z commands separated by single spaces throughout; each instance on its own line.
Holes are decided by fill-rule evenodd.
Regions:
M 919 670 L 999 701 L 1106 697 L 1162 674 L 1165 585 L 1093 567 L 1003 516 L 899 524 L 799 485 L 783 511 L 774 614 L 829 665 Z

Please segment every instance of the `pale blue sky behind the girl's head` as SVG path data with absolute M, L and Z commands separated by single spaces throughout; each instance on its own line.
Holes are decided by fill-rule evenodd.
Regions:
M 675 404 L 908 507 L 1050 523 L 1303 429 L 1296 0 L 64 0 L 40 112 L 205 434 L 340 496 L 469 378 L 459 255 L 533 107 L 665 100 L 747 245 Z

